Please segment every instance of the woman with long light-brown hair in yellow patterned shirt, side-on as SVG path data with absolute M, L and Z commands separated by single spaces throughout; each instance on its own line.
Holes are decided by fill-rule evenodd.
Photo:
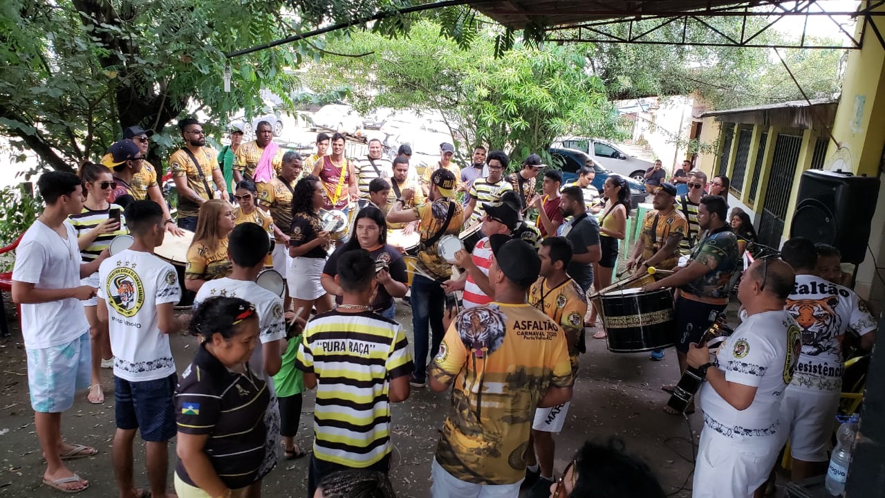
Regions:
M 227 236 L 234 231 L 234 208 L 227 200 L 213 198 L 200 206 L 194 241 L 188 248 L 184 287 L 197 292 L 206 282 L 230 274 Z

